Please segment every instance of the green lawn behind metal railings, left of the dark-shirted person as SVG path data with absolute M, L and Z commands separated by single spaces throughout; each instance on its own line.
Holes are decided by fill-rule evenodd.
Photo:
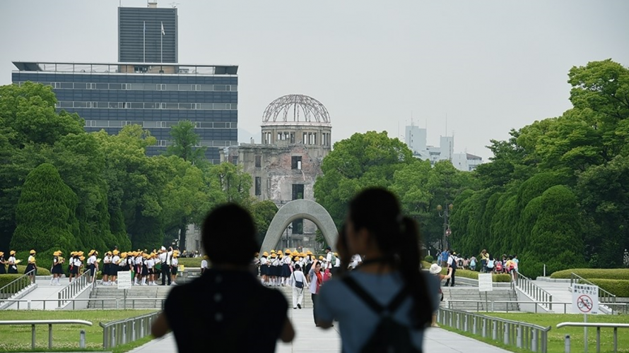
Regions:
M 130 318 L 151 313 L 155 310 L 81 310 L 81 311 L 2 311 L 2 320 L 86 320 L 93 325 L 53 325 L 52 326 L 52 351 L 78 350 L 78 338 L 80 330 L 86 330 L 86 349 L 102 351 L 102 328 L 98 323 L 107 323 L 122 318 Z M 30 351 L 30 325 L 0 326 L 0 352 Z M 36 347 L 40 351 L 49 352 L 48 326 L 36 325 Z M 143 341 L 148 342 L 150 338 Z M 135 344 L 135 345 L 134 345 Z M 126 352 L 137 347 L 140 342 L 124 345 L 114 352 Z

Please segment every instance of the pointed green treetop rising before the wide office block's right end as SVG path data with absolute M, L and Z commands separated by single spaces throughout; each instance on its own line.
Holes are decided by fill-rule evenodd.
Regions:
M 199 147 L 201 138 L 194 133 L 196 126 L 192 121 L 180 121 L 170 128 L 170 146 L 166 148 L 166 155 L 176 155 L 192 164 L 205 161 L 206 147 Z

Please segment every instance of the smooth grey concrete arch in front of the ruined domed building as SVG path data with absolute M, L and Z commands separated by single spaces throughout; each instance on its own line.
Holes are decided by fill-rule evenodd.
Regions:
M 328 211 L 323 208 L 322 205 L 314 201 L 294 200 L 283 205 L 282 208 L 278 210 L 275 217 L 273 217 L 271 225 L 269 225 L 269 229 L 266 231 L 264 241 L 262 242 L 260 253 L 275 249 L 286 227 L 294 220 L 299 220 L 300 218 L 314 222 L 323 233 L 327 244 L 329 244 L 332 249 L 336 247 L 336 239 L 338 239 L 339 233 Z

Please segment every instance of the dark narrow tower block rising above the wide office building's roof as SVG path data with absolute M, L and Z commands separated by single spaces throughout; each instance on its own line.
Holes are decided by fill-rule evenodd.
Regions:
M 118 8 L 118 61 L 177 62 L 177 8 Z

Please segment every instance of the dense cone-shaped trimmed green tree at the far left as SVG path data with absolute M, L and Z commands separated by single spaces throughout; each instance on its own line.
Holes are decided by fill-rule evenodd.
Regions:
M 64 184 L 52 164 L 41 164 L 28 174 L 18 208 L 11 248 L 16 250 L 71 249 L 76 245 L 78 198 Z

